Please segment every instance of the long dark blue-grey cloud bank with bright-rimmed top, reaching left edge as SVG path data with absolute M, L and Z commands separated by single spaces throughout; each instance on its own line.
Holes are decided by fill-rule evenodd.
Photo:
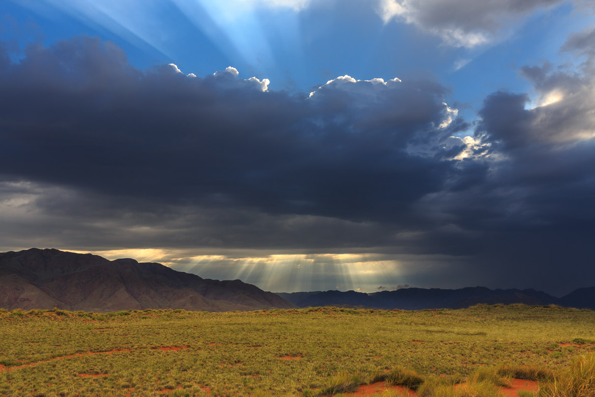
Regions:
M 262 92 L 231 72 L 142 72 L 111 43 L 80 37 L 29 46 L 0 84 L 0 167 L 17 179 L 378 220 L 439 191 L 452 172 L 449 161 L 406 151 L 420 134 L 434 146 L 447 137 L 436 127 L 446 117 L 444 89 L 426 82 L 330 83 L 306 99 Z

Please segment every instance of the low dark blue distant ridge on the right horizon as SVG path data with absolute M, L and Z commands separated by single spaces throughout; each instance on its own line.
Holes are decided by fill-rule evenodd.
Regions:
M 534 289 L 461 289 L 403 288 L 394 291 L 363 293 L 355 291 L 280 292 L 281 296 L 298 307 L 349 306 L 377 309 L 422 310 L 437 308 L 465 308 L 477 304 L 550 305 L 595 309 L 595 287 L 581 288 L 562 298 Z

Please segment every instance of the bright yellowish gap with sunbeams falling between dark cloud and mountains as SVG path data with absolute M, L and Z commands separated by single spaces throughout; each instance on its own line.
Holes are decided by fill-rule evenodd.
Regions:
M 109 260 L 133 258 L 139 262 L 159 262 L 204 279 L 239 279 L 274 292 L 332 287 L 343 291 L 375 292 L 378 286 L 386 285 L 387 279 L 398 278 L 400 274 L 398 261 L 375 258 L 373 254 L 197 255 L 184 258 L 176 257 L 181 253 L 167 249 L 114 249 L 92 253 Z

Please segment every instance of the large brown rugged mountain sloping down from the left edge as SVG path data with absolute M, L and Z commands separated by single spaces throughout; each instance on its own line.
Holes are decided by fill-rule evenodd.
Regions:
M 293 308 L 240 280 L 202 279 L 158 263 L 109 261 L 57 249 L 0 253 L 0 307 L 118 311 L 145 308 L 233 311 Z

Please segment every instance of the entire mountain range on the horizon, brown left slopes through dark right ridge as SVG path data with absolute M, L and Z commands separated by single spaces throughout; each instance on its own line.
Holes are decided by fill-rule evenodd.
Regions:
M 98 255 L 37 248 L 0 253 L 0 307 L 9 310 L 233 311 L 318 306 L 421 310 L 514 303 L 595 310 L 595 287 L 580 288 L 562 298 L 534 289 L 486 287 L 272 293 L 240 280 L 202 279 L 129 258 L 109 261 Z

